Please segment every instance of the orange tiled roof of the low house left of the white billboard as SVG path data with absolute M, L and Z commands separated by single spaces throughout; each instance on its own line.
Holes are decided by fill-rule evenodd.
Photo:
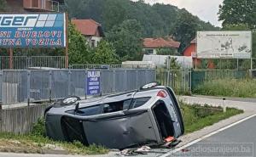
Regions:
M 144 48 L 179 48 L 179 46 L 180 42 L 175 42 L 170 39 L 165 40 L 162 37 L 143 39 Z

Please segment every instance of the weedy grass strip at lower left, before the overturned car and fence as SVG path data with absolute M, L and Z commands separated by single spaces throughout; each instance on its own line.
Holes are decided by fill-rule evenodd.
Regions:
M 17 145 L 17 141 L 20 144 Z M 109 151 L 108 149 L 95 144 L 85 147 L 78 141 L 67 143 L 51 140 L 46 137 L 44 119 L 39 119 L 38 123 L 34 124 L 32 132 L 26 135 L 0 133 L 0 151 L 40 153 L 42 149 L 45 149 L 45 146 L 49 144 L 61 147 L 62 149 L 67 150 L 69 154 L 107 154 Z M 12 148 L 13 145 L 15 145 L 14 148 Z

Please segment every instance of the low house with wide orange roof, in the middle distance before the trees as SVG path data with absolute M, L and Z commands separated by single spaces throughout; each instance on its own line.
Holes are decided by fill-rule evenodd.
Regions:
M 147 54 L 157 54 L 159 48 L 170 48 L 177 53 L 177 48 L 179 48 L 180 42 L 175 42 L 171 38 L 164 39 L 162 37 L 158 38 L 144 38 L 143 39 L 143 52 Z

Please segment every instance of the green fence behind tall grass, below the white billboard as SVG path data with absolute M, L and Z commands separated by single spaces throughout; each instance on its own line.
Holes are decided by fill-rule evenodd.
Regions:
M 204 81 L 217 79 L 243 79 L 248 75 L 247 70 L 193 70 L 191 72 L 191 89 L 195 89 Z

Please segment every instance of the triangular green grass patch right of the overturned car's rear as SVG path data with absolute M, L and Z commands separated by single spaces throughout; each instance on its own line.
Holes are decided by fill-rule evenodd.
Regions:
M 234 108 L 227 108 L 227 111 L 224 113 L 223 109 L 220 107 L 212 107 L 208 105 L 201 106 L 196 104 L 188 105 L 183 104 L 182 102 L 180 104 L 182 108 L 185 133 L 201 130 L 206 126 L 212 126 L 218 121 L 243 113 L 242 110 Z

